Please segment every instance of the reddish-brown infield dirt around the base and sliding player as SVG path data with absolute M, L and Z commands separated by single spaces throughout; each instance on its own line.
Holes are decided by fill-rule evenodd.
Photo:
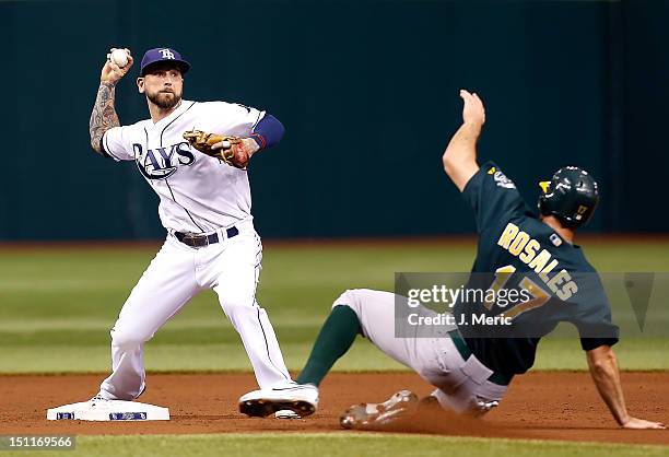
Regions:
M 150 374 L 141 401 L 168 407 L 168 422 L 47 421 L 46 410 L 84 401 L 103 375 L 0 376 L 0 434 L 192 434 L 228 432 L 333 432 L 339 414 L 363 401 L 382 401 L 400 388 L 426 395 L 411 373 L 334 373 L 321 386 L 316 414 L 304 420 L 250 419 L 237 398 L 257 388 L 250 374 Z M 669 422 L 669 373 L 623 373 L 633 415 Z M 619 430 L 587 373 L 538 372 L 517 377 L 496 410 L 482 421 L 431 414 L 392 432 L 536 440 L 669 445 L 669 431 Z

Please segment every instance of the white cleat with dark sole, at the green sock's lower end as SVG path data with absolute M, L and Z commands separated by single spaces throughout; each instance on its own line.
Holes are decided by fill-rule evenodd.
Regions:
M 286 410 L 305 418 L 313 414 L 317 407 L 318 387 L 312 384 L 254 390 L 239 398 L 239 412 L 251 418 L 266 418 Z

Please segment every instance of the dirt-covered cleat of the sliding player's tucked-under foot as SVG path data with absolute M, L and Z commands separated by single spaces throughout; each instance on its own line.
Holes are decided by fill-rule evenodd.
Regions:
M 367 429 L 375 425 L 386 425 L 407 413 L 415 411 L 419 405 L 418 396 L 411 390 L 400 390 L 383 403 L 354 405 L 339 418 L 344 429 Z

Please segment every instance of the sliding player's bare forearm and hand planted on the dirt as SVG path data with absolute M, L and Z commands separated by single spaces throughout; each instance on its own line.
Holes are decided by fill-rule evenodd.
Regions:
M 586 352 L 592 380 L 613 418 L 623 429 L 666 429 L 660 422 L 636 419 L 627 413 L 620 384 L 618 360 L 610 345 L 600 345 Z

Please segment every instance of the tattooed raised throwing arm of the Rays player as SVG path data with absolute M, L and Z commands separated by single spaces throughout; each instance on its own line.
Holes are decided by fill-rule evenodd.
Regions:
M 110 51 L 113 52 L 114 49 Z M 133 60 L 130 50 L 126 49 L 126 52 L 128 54 L 128 63 L 124 68 L 107 59 L 99 74 L 99 87 L 97 87 L 97 97 L 95 98 L 91 120 L 89 121 L 89 133 L 91 134 L 91 147 L 101 154 L 103 134 L 110 128 L 120 126 L 116 108 L 114 107 L 114 97 L 116 83 L 132 67 Z

